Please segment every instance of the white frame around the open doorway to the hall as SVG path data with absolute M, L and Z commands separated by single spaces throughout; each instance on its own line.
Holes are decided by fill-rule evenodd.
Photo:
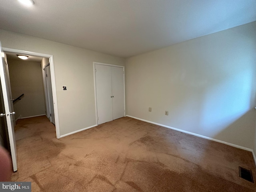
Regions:
M 3 50 L 4 50 L 4 52 L 10 52 L 10 53 L 15 53 L 15 54 L 25 54 L 25 55 L 27 54 L 27 55 L 31 55 L 31 56 L 49 58 L 50 69 L 51 69 L 51 80 L 52 80 L 52 94 L 53 94 L 53 102 L 54 102 L 56 137 L 60 138 L 60 124 L 59 124 L 59 113 L 58 113 L 57 91 L 56 91 L 53 55 L 18 50 L 18 49 L 11 49 L 11 48 L 4 48 L 4 47 L 3 47 Z

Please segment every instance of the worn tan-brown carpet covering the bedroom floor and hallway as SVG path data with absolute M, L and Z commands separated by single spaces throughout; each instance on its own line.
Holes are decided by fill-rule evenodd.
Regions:
M 32 192 L 253 192 L 251 152 L 124 117 L 56 139 L 46 116 L 18 120 L 18 172 Z

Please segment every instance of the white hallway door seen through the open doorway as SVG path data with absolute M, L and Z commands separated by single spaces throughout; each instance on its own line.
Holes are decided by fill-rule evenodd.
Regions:
M 46 82 L 47 82 L 47 90 L 48 90 L 47 91 L 48 99 L 49 99 L 49 103 L 50 103 L 50 122 L 52 122 L 55 125 L 50 65 L 46 66 Z

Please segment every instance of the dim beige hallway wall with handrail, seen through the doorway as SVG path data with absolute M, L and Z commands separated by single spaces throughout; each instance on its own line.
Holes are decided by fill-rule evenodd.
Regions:
M 44 115 L 44 91 L 40 62 L 8 60 L 15 119 Z

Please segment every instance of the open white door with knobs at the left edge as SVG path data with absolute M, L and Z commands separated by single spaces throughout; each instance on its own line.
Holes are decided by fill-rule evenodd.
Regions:
M 9 70 L 8 64 L 4 60 L 4 52 L 2 49 L 2 45 L 0 43 L 0 50 L 1 50 L 1 63 L 0 63 L 0 80 L 2 85 L 2 94 L 4 99 L 4 109 L 1 116 L 6 118 L 7 122 L 7 129 L 8 129 L 8 136 L 10 142 L 10 150 L 12 156 L 12 166 L 13 171 L 17 171 L 17 153 L 16 153 L 16 141 L 14 135 L 14 111 L 12 105 L 12 93 L 11 93 L 11 86 L 10 86 L 10 78 L 9 78 Z

